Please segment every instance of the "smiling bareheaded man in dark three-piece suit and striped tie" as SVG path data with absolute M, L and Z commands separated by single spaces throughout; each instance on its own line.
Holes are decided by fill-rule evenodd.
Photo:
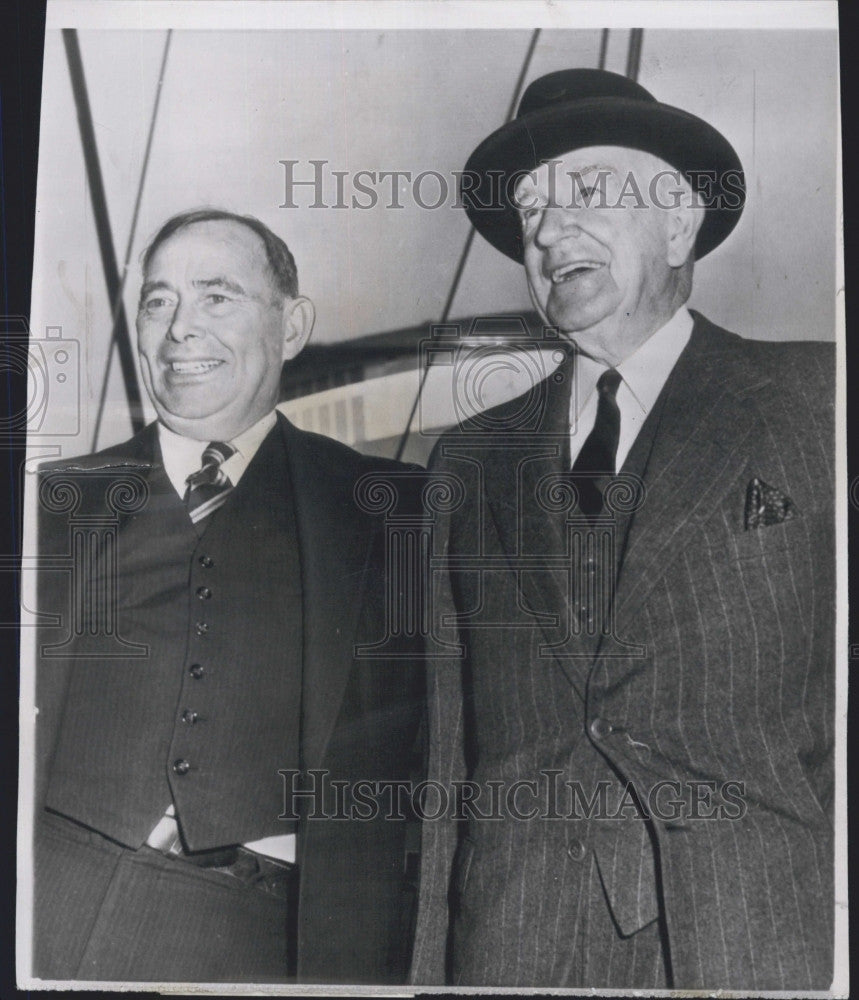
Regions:
M 414 638 L 357 652 L 388 619 L 384 522 L 355 494 L 396 475 L 415 514 L 407 469 L 275 409 L 314 309 L 259 220 L 175 216 L 143 272 L 158 420 L 42 477 L 45 566 L 82 523 L 115 534 L 41 577 L 61 627 L 37 665 L 33 973 L 402 982 L 405 823 L 326 787 L 409 774 L 423 673 Z M 335 785 L 293 797 L 308 770 Z

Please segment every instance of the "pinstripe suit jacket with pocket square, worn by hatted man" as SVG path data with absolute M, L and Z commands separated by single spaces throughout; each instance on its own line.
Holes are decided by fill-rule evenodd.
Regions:
M 582 892 L 568 848 L 581 830 L 622 932 L 651 919 L 655 885 L 671 985 L 828 986 L 833 397 L 831 345 L 744 340 L 695 316 L 625 466 L 643 474 L 646 496 L 622 528 L 615 631 L 643 655 L 612 657 L 598 641 L 574 659 L 547 653 L 557 630 L 549 614 L 534 626 L 533 612 L 566 599 L 556 571 L 511 564 L 485 574 L 482 590 L 478 574 L 437 574 L 436 621 L 460 614 L 458 629 L 438 634 L 464 655 L 430 661 L 431 779 L 608 772 L 615 792 L 629 783 L 642 800 L 679 782 L 686 806 L 652 816 L 647 838 L 642 823 L 425 822 L 413 982 L 466 968 L 486 985 L 563 985 Z M 437 523 L 436 552 L 509 559 L 551 538 L 549 515 L 517 506 L 517 494 L 533 497 L 520 473 L 535 456 L 540 467 L 543 443 L 505 434 L 523 412 L 520 399 L 483 415 L 494 447 L 475 424 L 443 437 L 433 468 L 460 476 L 466 498 Z M 549 406 L 538 430 L 564 419 Z M 794 516 L 747 528 L 754 478 L 789 497 Z M 495 624 L 470 628 L 463 612 Z M 612 723 L 607 735 L 594 735 L 598 718 Z M 694 815 L 694 782 L 716 788 L 699 816 L 722 818 Z M 719 794 L 729 782 L 739 808 Z

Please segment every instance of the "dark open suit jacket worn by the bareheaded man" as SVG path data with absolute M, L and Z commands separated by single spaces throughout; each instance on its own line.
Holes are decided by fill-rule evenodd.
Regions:
M 423 667 L 409 639 L 396 650 L 402 659 L 355 656 L 356 644 L 385 635 L 388 609 L 384 521 L 356 504 L 353 489 L 367 473 L 402 474 L 406 467 L 298 430 L 282 416 L 278 425 L 301 552 L 301 769 L 324 769 L 329 780 L 350 783 L 403 777 L 423 711 Z M 85 470 L 115 466 L 117 475 L 137 472 L 146 480 L 158 459 L 151 425 L 123 445 L 64 465 Z M 77 512 L 102 511 L 104 481 L 94 481 L 91 491 L 86 476 L 78 482 L 82 498 Z M 400 491 L 404 507 L 417 503 L 402 480 Z M 269 499 L 277 502 L 276 497 Z M 43 558 L 67 551 L 67 525 L 67 515 L 43 518 Z M 248 559 L 259 555 L 249 552 Z M 68 585 L 63 574 L 45 574 L 49 578 L 56 579 L 55 585 Z M 66 607 L 62 596 L 41 593 L 43 610 Z M 232 627 L 241 635 L 242 622 Z M 252 656 L 260 648 L 258 638 L 246 636 L 245 648 Z M 49 669 L 43 663 L 37 674 L 37 808 L 43 801 L 70 669 L 68 662 L 53 660 Z M 297 803 L 299 981 L 402 981 L 411 905 L 404 878 L 405 824 L 381 818 L 311 821 L 311 801 Z

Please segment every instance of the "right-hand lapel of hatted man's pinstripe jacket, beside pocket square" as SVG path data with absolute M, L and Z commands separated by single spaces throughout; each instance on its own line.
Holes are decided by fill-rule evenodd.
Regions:
M 730 349 L 733 337 L 696 315 L 689 344 L 663 389 L 645 499 L 630 520 L 617 578 L 621 634 L 746 463 L 755 426 L 748 397 L 768 380 Z

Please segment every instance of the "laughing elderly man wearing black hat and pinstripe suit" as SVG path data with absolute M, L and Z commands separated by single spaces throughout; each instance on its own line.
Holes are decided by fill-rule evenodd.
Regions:
M 560 363 L 433 459 L 464 495 L 429 679 L 456 804 L 424 823 L 412 981 L 825 989 L 832 345 L 686 308 L 742 167 L 625 77 L 536 80 L 466 181 Z

